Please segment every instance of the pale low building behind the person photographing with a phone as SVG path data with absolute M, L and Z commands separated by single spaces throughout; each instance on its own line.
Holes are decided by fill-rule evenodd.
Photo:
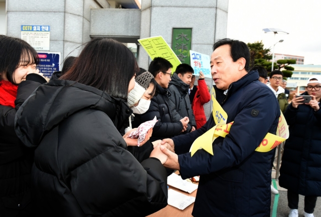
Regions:
M 294 67 L 292 77 L 287 78 L 286 87 L 291 91 L 302 93 L 305 91 L 307 79 L 313 75 L 321 75 L 321 65 L 291 64 Z

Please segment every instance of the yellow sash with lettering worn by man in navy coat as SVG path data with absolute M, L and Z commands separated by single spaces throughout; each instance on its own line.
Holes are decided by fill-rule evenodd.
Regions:
M 194 153 L 198 150 L 203 148 L 210 154 L 214 155 L 213 153 L 213 141 L 219 137 L 225 137 L 227 134 L 230 133 L 230 128 L 233 125 L 233 122 L 226 123 L 227 121 L 227 113 L 224 111 L 222 106 L 218 103 L 215 97 L 215 90 L 212 87 L 212 101 L 213 101 L 213 118 L 216 123 L 211 129 L 206 131 L 203 135 L 199 136 L 193 142 L 191 146 L 191 155 L 193 156 Z M 275 148 L 281 142 L 285 141 L 289 137 L 289 129 L 286 123 L 286 120 L 281 112 L 279 117 L 279 123 L 276 129 L 276 135 L 272 133 L 267 133 L 258 147 L 255 149 L 259 152 L 267 152 Z

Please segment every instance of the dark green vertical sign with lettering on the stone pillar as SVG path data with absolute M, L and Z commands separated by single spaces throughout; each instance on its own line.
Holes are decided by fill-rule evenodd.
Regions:
M 192 28 L 173 28 L 172 49 L 182 63 L 190 64 Z

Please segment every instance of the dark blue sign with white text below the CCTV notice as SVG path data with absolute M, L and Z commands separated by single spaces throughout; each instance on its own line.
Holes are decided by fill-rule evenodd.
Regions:
M 51 77 L 55 71 L 60 71 L 60 52 L 38 52 L 39 64 L 37 68 L 44 76 Z

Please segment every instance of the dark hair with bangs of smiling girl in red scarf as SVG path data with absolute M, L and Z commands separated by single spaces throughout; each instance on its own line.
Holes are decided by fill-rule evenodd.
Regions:
M 38 64 L 39 57 L 36 50 L 26 41 L 0 35 L 0 73 L 6 73 L 8 81 L 17 84 L 14 72 L 20 65 Z M 2 80 L 0 76 L 0 80 Z

